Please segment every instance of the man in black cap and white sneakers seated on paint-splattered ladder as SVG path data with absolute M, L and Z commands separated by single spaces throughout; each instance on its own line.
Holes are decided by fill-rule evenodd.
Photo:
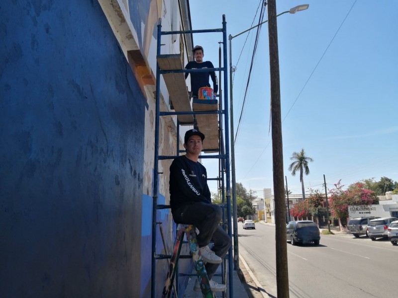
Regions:
M 211 203 L 206 168 L 198 161 L 204 135 L 197 129 L 186 132 L 186 154 L 175 158 L 170 166 L 170 205 L 177 224 L 194 224 L 199 229 L 199 251 L 213 292 L 223 292 L 226 286 L 211 280 L 232 240 L 219 225 L 222 209 Z M 208 244 L 214 243 L 212 250 Z M 196 281 L 195 291 L 201 291 Z

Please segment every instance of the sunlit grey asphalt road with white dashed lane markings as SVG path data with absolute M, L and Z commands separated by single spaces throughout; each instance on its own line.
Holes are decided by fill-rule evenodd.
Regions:
M 269 297 L 277 297 L 275 225 L 238 223 L 239 254 Z M 288 245 L 290 298 L 397 296 L 398 246 L 350 234 L 321 235 L 320 244 Z

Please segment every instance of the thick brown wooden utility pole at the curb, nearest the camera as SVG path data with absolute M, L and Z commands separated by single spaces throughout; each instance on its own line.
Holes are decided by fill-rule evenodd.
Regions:
M 271 78 L 272 160 L 275 197 L 275 250 L 277 297 L 289 298 L 288 247 L 286 242 L 285 186 L 283 181 L 281 83 L 279 77 L 276 0 L 268 1 L 268 37 Z

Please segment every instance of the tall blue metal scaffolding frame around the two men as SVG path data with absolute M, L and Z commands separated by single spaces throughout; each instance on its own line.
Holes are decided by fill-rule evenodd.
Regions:
M 228 235 L 232 239 L 232 223 L 231 223 L 231 179 L 230 179 L 230 139 L 229 139 L 229 99 L 228 99 L 228 63 L 227 63 L 227 33 L 226 33 L 226 21 L 225 15 L 222 15 L 222 28 L 217 29 L 205 29 L 205 30 L 185 30 L 185 31 L 164 31 L 162 32 L 162 20 L 158 21 L 158 33 L 157 33 L 157 55 L 161 54 L 161 37 L 162 35 L 170 35 L 170 34 L 185 34 L 185 33 L 207 33 L 207 32 L 222 32 L 223 38 L 223 49 L 222 49 L 222 59 L 223 59 L 223 67 L 214 68 L 214 69 L 205 69 L 205 70 L 176 70 L 176 71 L 161 71 L 159 68 L 159 64 L 156 63 L 156 110 L 155 110 L 155 156 L 154 156 L 154 177 L 153 177 L 153 206 L 152 206 L 152 262 L 151 262 L 151 297 L 156 298 L 156 260 L 164 258 L 164 256 L 160 256 L 156 254 L 156 216 L 158 209 L 170 208 L 168 205 L 158 205 L 158 195 L 159 195 L 159 160 L 163 159 L 172 159 L 179 155 L 180 153 L 180 125 L 181 123 L 177 121 L 177 148 L 176 156 L 160 156 L 159 155 L 159 121 L 161 116 L 165 115 L 181 115 L 181 114 L 219 114 L 220 121 L 220 146 L 217 155 L 200 155 L 199 158 L 217 158 L 220 160 L 220 175 L 219 178 L 209 178 L 208 180 L 219 180 L 221 182 L 221 190 L 222 190 L 222 198 L 223 198 L 223 206 L 226 207 L 226 215 L 223 213 L 223 223 L 224 228 L 225 224 L 227 225 Z M 191 72 L 201 72 L 201 71 L 219 71 L 223 73 L 223 83 L 224 87 L 222 92 L 219 92 L 219 100 L 220 100 L 220 109 L 218 111 L 209 111 L 209 112 L 160 112 L 160 76 L 161 74 L 166 73 L 191 73 Z M 221 106 L 223 100 L 223 106 Z M 222 116 L 224 116 L 224 120 L 222 121 Z M 192 123 L 194 125 L 194 123 Z M 225 193 L 224 193 L 225 189 Z M 226 198 L 226 203 L 225 199 Z M 232 254 L 232 246 L 228 251 L 228 293 L 229 297 L 233 297 L 233 254 Z M 181 274 L 183 275 L 183 274 Z M 222 280 L 225 283 L 225 262 L 222 266 Z M 178 281 L 178 277 L 176 277 L 176 281 Z M 178 285 L 178 284 L 177 284 Z M 177 286 L 178 289 L 178 286 Z M 178 291 L 178 290 L 177 290 Z M 179 293 L 177 293 L 179 294 Z M 223 293 L 223 297 L 225 297 L 225 293 Z

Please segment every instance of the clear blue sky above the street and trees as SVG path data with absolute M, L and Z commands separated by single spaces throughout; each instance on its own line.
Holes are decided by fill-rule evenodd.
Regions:
M 194 29 L 222 27 L 232 36 L 250 28 L 260 0 L 191 0 Z M 309 8 L 278 17 L 284 174 L 301 192 L 299 175 L 288 171 L 294 151 L 314 159 L 304 187 L 328 188 L 339 179 L 385 176 L 398 181 L 398 1 L 277 0 L 277 13 L 299 4 Z M 267 19 L 267 14 L 264 20 Z M 268 26 L 263 25 L 246 104 L 242 110 L 256 30 L 232 39 L 236 181 L 262 197 L 273 189 Z M 241 58 L 243 44 L 247 38 Z M 194 35 L 204 60 L 218 65 L 220 33 Z M 326 50 L 327 49 L 327 50 Z M 326 51 L 326 52 L 325 52 Z M 322 57 L 323 56 L 323 57 Z M 229 62 L 228 62 L 229 63 Z M 229 65 L 229 64 L 228 64 Z M 229 74 L 228 74 L 229 75 Z M 208 176 L 214 160 L 203 159 Z M 216 185 L 209 183 L 216 192 Z

